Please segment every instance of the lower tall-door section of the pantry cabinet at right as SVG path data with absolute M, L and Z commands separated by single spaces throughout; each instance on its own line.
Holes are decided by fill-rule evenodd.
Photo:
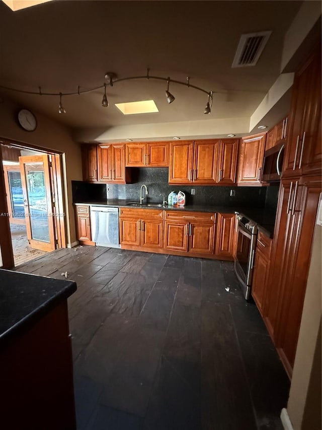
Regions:
M 289 376 L 302 315 L 320 176 L 283 179 L 275 226 L 264 320 Z

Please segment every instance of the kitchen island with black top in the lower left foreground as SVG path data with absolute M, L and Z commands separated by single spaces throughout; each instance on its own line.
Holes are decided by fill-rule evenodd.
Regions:
M 67 312 L 74 291 L 74 281 L 0 270 L 3 428 L 76 428 Z

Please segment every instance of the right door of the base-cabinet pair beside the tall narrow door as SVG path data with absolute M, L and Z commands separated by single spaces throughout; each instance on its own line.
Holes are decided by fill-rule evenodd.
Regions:
M 189 224 L 189 251 L 199 254 L 213 254 L 214 224 Z

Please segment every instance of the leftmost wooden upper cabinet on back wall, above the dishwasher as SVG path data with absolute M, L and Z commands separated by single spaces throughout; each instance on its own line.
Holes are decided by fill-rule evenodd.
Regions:
M 83 145 L 83 179 L 88 182 L 127 183 L 125 144 Z

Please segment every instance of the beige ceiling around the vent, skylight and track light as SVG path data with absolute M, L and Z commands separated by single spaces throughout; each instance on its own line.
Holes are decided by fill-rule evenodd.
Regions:
M 249 118 L 280 75 L 283 39 L 301 1 L 61 1 L 12 12 L 0 2 L 0 85 L 28 91 L 72 92 L 119 78 L 150 75 L 214 91 L 207 94 L 175 83 L 166 101 L 166 82 L 130 80 L 103 90 L 63 97 L 26 95 L 0 89 L 21 106 L 73 128 Z M 243 33 L 272 30 L 255 67 L 232 69 Z M 154 99 L 159 112 L 123 115 L 114 103 Z

